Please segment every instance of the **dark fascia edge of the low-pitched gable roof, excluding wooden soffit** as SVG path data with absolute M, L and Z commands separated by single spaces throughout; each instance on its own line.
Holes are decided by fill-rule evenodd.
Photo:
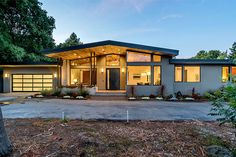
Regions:
M 46 49 L 41 52 L 44 53 L 45 55 L 50 55 L 50 54 L 56 54 L 56 53 L 61 53 L 61 52 L 67 52 L 67 51 L 69 52 L 69 51 L 74 51 L 74 50 L 82 50 L 82 49 L 94 48 L 94 47 L 99 47 L 99 46 L 107 46 L 107 45 L 127 47 L 131 49 L 133 48 L 133 49 L 147 50 L 150 52 L 161 52 L 163 53 L 163 55 L 170 55 L 170 56 L 177 56 L 179 54 L 179 50 L 175 50 L 175 49 L 154 47 L 154 46 L 134 44 L 134 43 L 126 43 L 126 42 L 113 41 L 113 40 L 93 42 L 93 43 L 87 43 L 87 44 L 82 44 L 78 46 L 70 46 L 70 47 L 65 47 L 65 48 Z

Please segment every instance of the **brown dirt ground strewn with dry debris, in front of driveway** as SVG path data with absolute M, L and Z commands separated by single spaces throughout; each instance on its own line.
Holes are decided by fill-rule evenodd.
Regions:
M 7 119 L 11 156 L 206 156 L 209 136 L 236 147 L 234 130 L 200 121 Z

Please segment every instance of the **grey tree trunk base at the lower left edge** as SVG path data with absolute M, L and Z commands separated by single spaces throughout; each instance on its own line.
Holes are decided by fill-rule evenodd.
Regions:
M 7 137 L 3 123 L 2 110 L 0 107 L 0 157 L 8 155 L 12 150 L 12 145 Z

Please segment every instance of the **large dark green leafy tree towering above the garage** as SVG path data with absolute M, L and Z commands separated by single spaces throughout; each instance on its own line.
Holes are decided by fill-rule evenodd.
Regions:
M 54 47 L 55 20 L 41 5 L 38 0 L 0 1 L 0 61 L 45 60 L 39 51 Z

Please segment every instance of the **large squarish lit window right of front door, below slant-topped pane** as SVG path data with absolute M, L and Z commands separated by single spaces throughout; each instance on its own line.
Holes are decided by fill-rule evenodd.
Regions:
M 128 66 L 128 85 L 150 85 L 151 66 Z

